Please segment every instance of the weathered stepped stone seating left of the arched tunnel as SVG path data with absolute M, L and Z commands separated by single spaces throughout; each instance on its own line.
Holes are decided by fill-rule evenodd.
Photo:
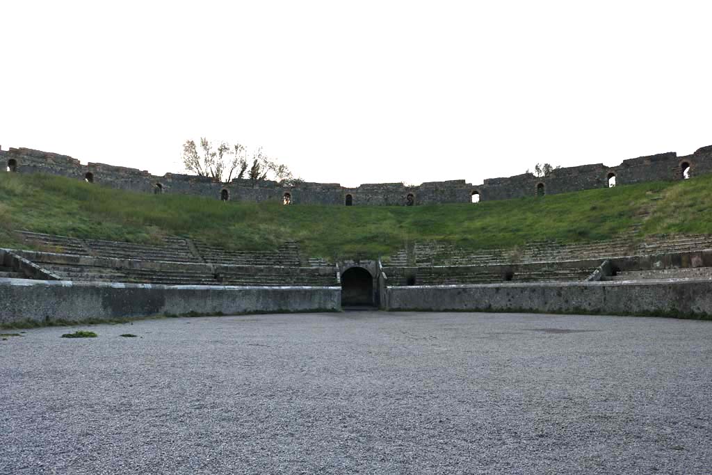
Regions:
M 39 251 L 17 251 L 56 276 L 70 281 L 157 283 L 166 285 L 336 286 L 333 264 L 305 260 L 298 245 L 277 251 L 228 251 L 180 237 L 165 246 L 21 231 Z M 10 276 L 11 269 L 0 276 Z

